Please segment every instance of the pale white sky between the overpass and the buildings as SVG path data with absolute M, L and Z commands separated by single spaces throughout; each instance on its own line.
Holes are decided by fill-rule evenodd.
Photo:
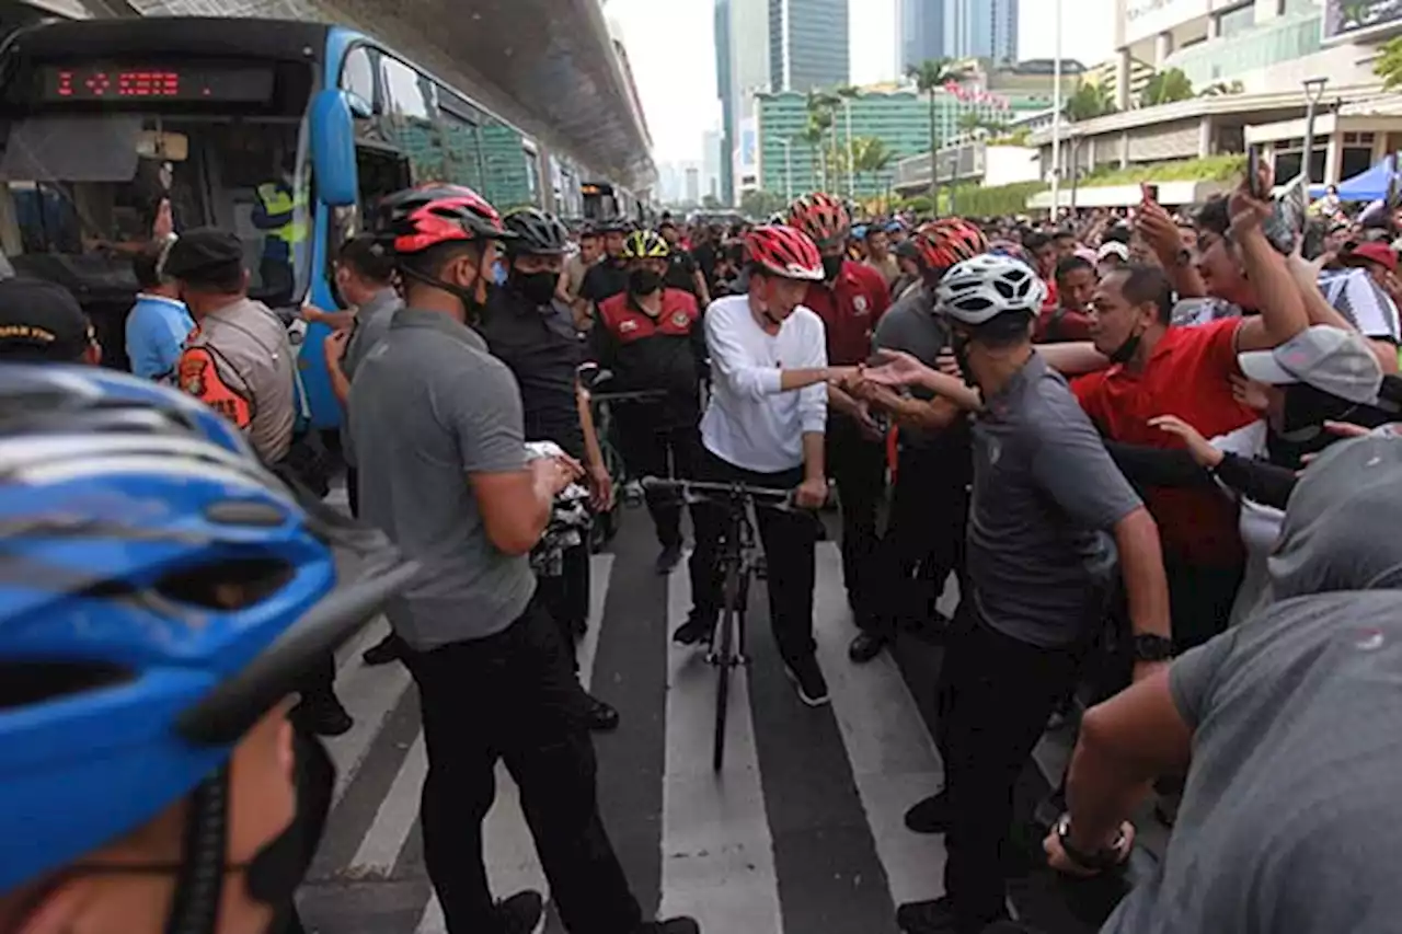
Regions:
M 896 77 L 896 0 L 851 0 L 852 83 Z M 1022 0 L 1018 57 L 1056 53 L 1056 1 Z M 665 7 L 666 13 L 659 13 Z M 721 125 L 714 0 L 607 0 L 622 31 L 658 161 L 701 161 L 702 135 Z M 1115 0 L 1066 0 L 1063 55 L 1098 65 L 1113 49 Z

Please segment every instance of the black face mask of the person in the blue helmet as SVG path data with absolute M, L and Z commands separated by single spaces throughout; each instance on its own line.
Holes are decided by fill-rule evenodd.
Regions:
M 264 844 L 244 871 L 248 895 L 273 906 L 279 914 L 290 912 L 292 896 L 311 868 L 336 784 L 336 767 L 320 739 L 297 731 L 293 754 L 297 811 L 292 823 Z M 275 923 L 272 930 L 280 930 L 279 924 Z

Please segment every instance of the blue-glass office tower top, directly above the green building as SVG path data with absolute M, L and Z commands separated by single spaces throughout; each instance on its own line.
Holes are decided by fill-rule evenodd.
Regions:
M 770 87 L 808 93 L 847 84 L 848 0 L 768 0 Z

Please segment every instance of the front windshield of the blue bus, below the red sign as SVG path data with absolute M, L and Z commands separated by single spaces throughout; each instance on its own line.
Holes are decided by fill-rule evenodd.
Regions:
M 167 229 L 215 226 L 243 240 L 255 297 L 296 303 L 311 247 L 300 126 L 126 111 L 0 125 L 0 245 L 20 275 L 95 296 L 132 292 L 133 255 Z

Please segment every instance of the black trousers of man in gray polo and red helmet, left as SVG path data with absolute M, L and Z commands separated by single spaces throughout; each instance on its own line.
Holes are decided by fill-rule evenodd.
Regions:
M 429 760 L 423 857 L 450 934 L 501 930 L 482 864 L 498 759 L 520 787 L 565 928 L 634 930 L 642 913 L 599 818 L 594 747 L 573 714 L 579 686 L 541 602 L 496 635 L 408 652 L 407 663 Z

